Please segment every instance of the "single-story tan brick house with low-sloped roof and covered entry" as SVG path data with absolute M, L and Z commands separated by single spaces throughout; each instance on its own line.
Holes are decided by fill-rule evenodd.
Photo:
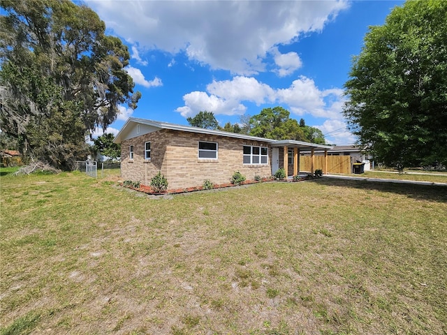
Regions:
M 168 179 L 170 189 L 202 186 L 206 179 L 226 184 L 235 171 L 247 179 L 256 175 L 270 177 L 279 168 L 295 175 L 299 173 L 301 150 L 332 148 L 133 117 L 119 131 L 115 143 L 121 143 L 124 179 L 150 185 L 160 171 Z

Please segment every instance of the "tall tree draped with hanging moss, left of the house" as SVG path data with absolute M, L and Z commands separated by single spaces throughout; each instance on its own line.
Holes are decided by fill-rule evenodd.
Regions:
M 71 169 L 85 135 L 106 129 L 119 105 L 136 107 L 129 52 L 87 6 L 1 1 L 0 127 L 22 154 Z M 85 157 L 84 157 L 85 158 Z

